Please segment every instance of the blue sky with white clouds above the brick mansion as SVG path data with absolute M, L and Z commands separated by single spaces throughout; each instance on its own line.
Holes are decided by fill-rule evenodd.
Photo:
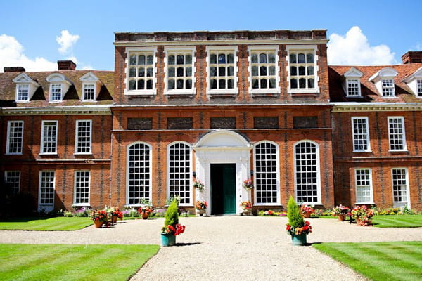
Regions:
M 124 4 L 123 4 L 124 3 Z M 331 64 L 422 51 L 422 1 L 1 1 L 0 67 L 114 69 L 114 32 L 326 29 Z

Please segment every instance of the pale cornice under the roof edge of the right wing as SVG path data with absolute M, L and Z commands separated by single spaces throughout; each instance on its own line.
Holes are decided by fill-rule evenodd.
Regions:
M 331 103 L 333 112 L 422 111 L 422 103 Z

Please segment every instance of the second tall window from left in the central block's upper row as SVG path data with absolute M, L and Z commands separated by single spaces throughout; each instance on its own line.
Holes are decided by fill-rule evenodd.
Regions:
M 193 48 L 185 50 L 167 49 L 167 91 L 193 93 L 195 61 Z

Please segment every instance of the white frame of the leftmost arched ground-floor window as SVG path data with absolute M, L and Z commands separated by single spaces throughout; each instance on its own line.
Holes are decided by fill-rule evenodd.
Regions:
M 129 197 L 129 191 L 130 191 L 129 190 L 129 181 L 130 181 L 130 174 L 131 174 L 130 173 L 131 162 L 130 162 L 130 159 L 129 159 L 130 158 L 129 152 L 130 152 L 130 149 L 132 148 L 132 146 L 138 145 L 138 144 L 139 145 L 146 145 L 146 147 L 148 148 L 148 152 L 149 152 L 148 153 L 148 159 L 149 160 L 148 160 L 148 162 L 146 162 L 146 163 L 148 163 L 148 172 L 144 171 L 144 173 L 143 173 L 147 176 L 146 180 L 148 181 L 148 185 L 145 188 L 148 189 L 147 192 L 148 192 L 149 196 L 144 197 L 144 198 L 146 200 L 148 200 L 149 202 L 151 202 L 152 197 L 153 197 L 153 195 L 152 195 L 153 190 L 151 189 L 151 187 L 153 186 L 153 177 L 151 176 L 151 171 L 153 169 L 153 147 L 149 143 L 145 143 L 145 142 L 142 142 L 142 141 L 130 143 L 129 145 L 127 145 L 127 148 L 126 148 L 126 167 L 127 168 L 126 168 L 126 204 L 125 204 L 125 206 L 140 206 L 141 205 L 141 202 L 132 203 L 132 204 L 129 203 L 129 200 L 130 200 L 130 197 Z

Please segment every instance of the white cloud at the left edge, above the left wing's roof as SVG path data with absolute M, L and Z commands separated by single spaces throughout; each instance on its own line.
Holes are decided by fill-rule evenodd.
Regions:
M 49 71 L 57 70 L 57 63 L 50 62 L 46 58 L 28 58 L 24 53 L 23 46 L 13 36 L 0 35 L 0 72 L 4 67 L 22 66 L 26 71 Z

